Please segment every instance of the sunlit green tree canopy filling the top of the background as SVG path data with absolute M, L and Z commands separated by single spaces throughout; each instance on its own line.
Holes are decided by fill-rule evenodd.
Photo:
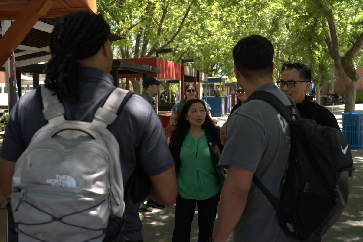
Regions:
M 363 78 L 353 73 L 354 66 L 363 66 L 362 5 L 363 0 L 101 0 L 98 12 L 125 37 L 113 43 L 117 58 L 155 57 L 171 48 L 159 57 L 178 63 L 193 58 L 188 65 L 233 79 L 233 46 L 259 34 L 275 47 L 274 81 L 282 63 L 300 62 L 321 88 L 335 80 L 334 64 L 348 86 Z

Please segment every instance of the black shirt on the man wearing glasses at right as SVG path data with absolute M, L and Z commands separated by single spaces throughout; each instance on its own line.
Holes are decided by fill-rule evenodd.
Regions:
M 296 104 L 301 118 L 313 119 L 317 124 L 322 126 L 337 128 L 340 130 L 337 119 L 327 108 L 320 106 L 318 103 L 311 102 L 305 95 L 305 102 Z

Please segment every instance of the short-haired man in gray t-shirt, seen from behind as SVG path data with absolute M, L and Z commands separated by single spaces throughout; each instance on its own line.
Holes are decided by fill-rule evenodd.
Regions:
M 246 37 L 233 49 L 234 72 L 247 97 L 266 91 L 290 105 L 272 80 L 273 53 L 266 38 Z M 280 196 L 290 153 L 289 124 L 272 105 L 253 100 L 233 112 L 226 131 L 219 165 L 228 168 L 228 174 L 212 241 L 225 241 L 232 230 L 234 241 L 295 241 L 282 230 L 276 211 L 252 183 L 255 174 L 270 192 Z

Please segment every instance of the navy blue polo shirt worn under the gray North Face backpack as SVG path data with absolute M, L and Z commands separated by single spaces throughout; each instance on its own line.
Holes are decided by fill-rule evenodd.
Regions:
M 66 120 L 91 122 L 97 108 L 115 89 L 113 78 L 105 71 L 82 67 L 82 77 L 77 84 L 81 89 L 81 102 L 70 104 L 63 100 L 64 117 Z M 16 162 L 33 135 L 47 123 L 36 90 L 24 94 L 10 112 L 0 156 Z M 174 165 L 162 124 L 154 108 L 139 95 L 131 96 L 121 114 L 107 129 L 120 146 L 123 184 L 130 179 L 137 161 L 148 176 L 159 175 Z M 130 241 L 141 240 L 142 223 L 129 193 L 125 196 L 125 204 L 124 235 Z

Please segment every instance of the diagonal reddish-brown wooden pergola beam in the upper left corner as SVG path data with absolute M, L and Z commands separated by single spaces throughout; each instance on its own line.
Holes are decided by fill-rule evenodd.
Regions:
M 0 66 L 11 56 L 11 49 L 16 49 L 25 36 L 52 7 L 54 0 L 30 0 L 16 17 L 13 24 L 0 39 Z

